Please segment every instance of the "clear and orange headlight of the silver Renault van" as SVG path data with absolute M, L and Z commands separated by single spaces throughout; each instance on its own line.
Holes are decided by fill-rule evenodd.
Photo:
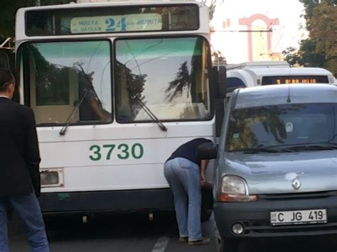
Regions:
M 220 189 L 221 202 L 256 202 L 257 195 L 248 195 L 245 180 L 236 176 L 225 176 Z

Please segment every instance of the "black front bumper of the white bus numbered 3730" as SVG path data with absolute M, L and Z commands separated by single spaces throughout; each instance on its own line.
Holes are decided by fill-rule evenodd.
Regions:
M 202 190 L 203 209 L 213 208 L 211 189 Z M 43 214 L 173 211 L 170 188 L 95 192 L 43 192 Z

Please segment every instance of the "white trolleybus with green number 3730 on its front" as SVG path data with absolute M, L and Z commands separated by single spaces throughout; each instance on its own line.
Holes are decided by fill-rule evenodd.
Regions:
M 209 40 L 198 2 L 18 10 L 19 99 L 36 116 L 44 214 L 173 209 L 164 162 L 215 139 Z

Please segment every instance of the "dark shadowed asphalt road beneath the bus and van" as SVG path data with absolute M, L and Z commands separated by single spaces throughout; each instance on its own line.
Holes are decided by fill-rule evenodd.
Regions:
M 216 251 L 215 239 L 209 245 L 188 246 L 179 243 L 176 221 L 172 214 L 155 214 L 149 221 L 146 214 L 105 214 L 89 217 L 87 224 L 81 216 L 46 219 L 50 251 L 55 252 L 209 252 Z M 203 224 L 205 234 L 213 231 L 211 223 Z M 29 251 L 15 217 L 9 222 L 11 252 Z M 329 239 L 277 239 L 247 241 L 240 252 L 336 252 L 337 237 Z

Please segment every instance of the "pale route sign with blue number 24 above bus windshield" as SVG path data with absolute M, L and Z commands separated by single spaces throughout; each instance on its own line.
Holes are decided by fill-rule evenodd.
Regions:
M 72 18 L 71 33 L 110 33 L 124 31 L 160 31 L 162 18 L 157 13 L 121 16 L 89 16 Z

